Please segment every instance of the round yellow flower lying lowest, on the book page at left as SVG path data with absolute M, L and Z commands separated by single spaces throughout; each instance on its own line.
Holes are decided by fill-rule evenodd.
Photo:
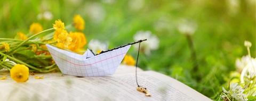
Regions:
M 13 80 L 17 82 L 25 82 L 28 80 L 29 69 L 25 65 L 17 64 L 12 67 L 10 74 Z

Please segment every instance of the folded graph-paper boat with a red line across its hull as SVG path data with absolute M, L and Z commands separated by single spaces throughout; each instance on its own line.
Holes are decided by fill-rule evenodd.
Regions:
M 46 44 L 46 47 L 62 74 L 95 77 L 113 75 L 131 45 L 97 56 L 92 55 L 89 50 L 81 55 L 58 49 L 49 44 Z

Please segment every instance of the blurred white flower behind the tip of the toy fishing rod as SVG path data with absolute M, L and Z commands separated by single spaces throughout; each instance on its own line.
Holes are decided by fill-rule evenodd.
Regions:
M 150 54 L 151 50 L 157 50 L 159 45 L 159 40 L 155 34 L 152 34 L 150 31 L 138 31 L 134 36 L 134 41 L 144 40 L 140 43 L 140 50 L 145 52 L 146 55 Z M 134 44 L 133 47 L 135 49 L 139 49 L 139 44 Z

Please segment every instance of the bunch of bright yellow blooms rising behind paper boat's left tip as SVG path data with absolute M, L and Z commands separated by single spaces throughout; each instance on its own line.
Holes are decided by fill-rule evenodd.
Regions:
M 80 15 L 75 15 L 73 18 L 74 27 L 78 31 L 84 30 L 85 22 Z M 60 48 L 69 49 L 74 52 L 82 51 L 86 45 L 86 37 L 82 32 L 67 32 L 65 25 L 61 20 L 55 21 L 53 24 L 55 29 L 53 35 L 53 41 L 57 41 L 56 44 Z

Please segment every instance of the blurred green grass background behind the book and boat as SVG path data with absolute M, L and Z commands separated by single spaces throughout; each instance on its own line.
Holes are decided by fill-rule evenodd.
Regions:
M 237 7 L 228 0 L 1 1 L 0 38 L 28 33 L 33 22 L 41 23 L 44 30 L 50 29 L 57 19 L 68 25 L 75 14 L 86 22 L 83 32 L 87 42 L 107 41 L 109 49 L 134 42 L 137 31 L 149 30 L 159 38 L 159 49 L 150 56 L 141 54 L 139 67 L 171 76 L 214 99 L 222 86 L 227 86 L 224 78 L 235 70 L 236 58 L 247 54 L 244 40 L 252 42 L 251 55 L 256 55 L 255 1 L 237 1 Z M 52 20 L 37 19 L 45 11 L 53 14 Z M 197 71 L 193 69 L 186 36 L 178 31 L 181 19 L 197 23 L 192 35 Z M 137 50 L 131 48 L 129 54 L 135 58 Z

